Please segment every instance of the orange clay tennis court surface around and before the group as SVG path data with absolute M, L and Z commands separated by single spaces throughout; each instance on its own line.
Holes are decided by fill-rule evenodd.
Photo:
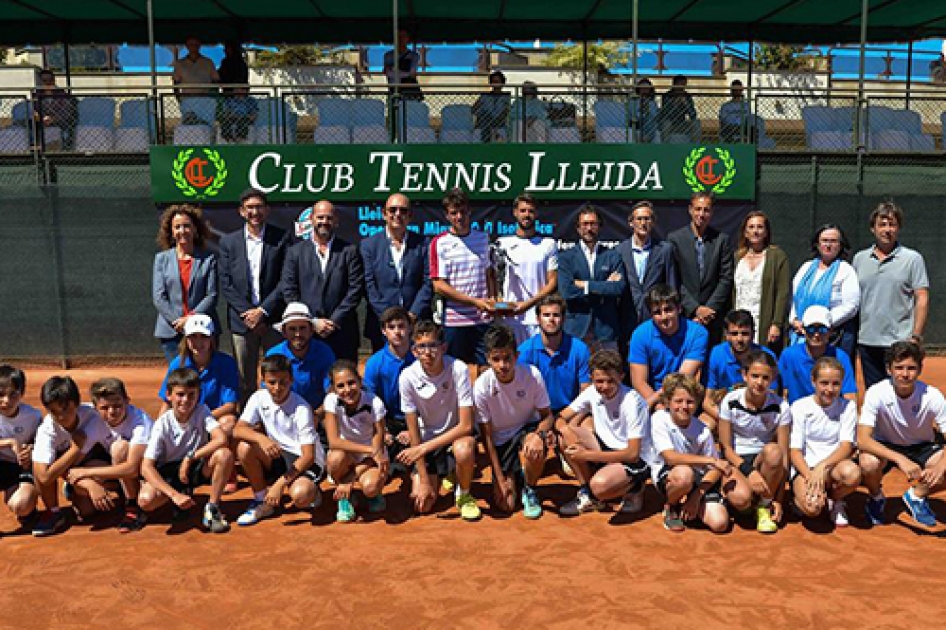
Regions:
M 54 373 L 28 370 L 28 402 Z M 84 392 L 120 376 L 134 402 L 157 411 L 161 369 L 69 374 Z M 946 360 L 929 360 L 925 378 L 946 386 Z M 903 478 L 887 479 L 897 497 Z M 473 487 L 482 506 L 486 481 Z M 873 530 L 862 490 L 840 532 L 793 518 L 774 536 L 749 521 L 716 536 L 665 531 L 650 486 L 642 517 L 563 520 L 553 504 L 573 496 L 573 482 L 552 474 L 541 520 L 486 509 L 465 523 L 446 499 L 446 514 L 410 518 L 403 495 L 391 495 L 400 483 L 378 520 L 335 524 L 327 501 L 314 519 L 290 512 L 222 536 L 161 514 L 132 535 L 117 533 L 116 515 L 36 539 L 0 510 L 0 627 L 911 628 L 946 612 L 946 533 L 910 525 L 897 498 L 893 523 Z M 231 521 L 249 497 L 244 487 L 225 499 Z M 942 497 L 932 504 L 946 519 Z

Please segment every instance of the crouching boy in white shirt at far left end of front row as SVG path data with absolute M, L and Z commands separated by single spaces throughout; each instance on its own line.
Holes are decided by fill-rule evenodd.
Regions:
M 33 483 L 33 440 L 43 419 L 38 409 L 22 402 L 25 392 L 23 370 L 0 365 L 0 490 L 24 526 L 39 499 Z

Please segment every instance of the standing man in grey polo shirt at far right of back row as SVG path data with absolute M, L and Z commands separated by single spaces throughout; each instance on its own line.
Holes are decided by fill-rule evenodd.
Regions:
M 892 201 L 870 214 L 874 244 L 854 256 L 861 290 L 858 354 L 864 386 L 887 378 L 885 352 L 897 341 L 923 343 L 930 281 L 923 256 L 900 244 L 903 211 Z

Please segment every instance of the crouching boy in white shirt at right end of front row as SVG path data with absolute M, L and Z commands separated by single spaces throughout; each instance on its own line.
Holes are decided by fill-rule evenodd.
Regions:
M 946 486 L 946 457 L 933 428 L 936 425 L 946 434 L 946 401 L 938 389 L 919 380 L 924 358 L 919 345 L 894 343 L 885 357 L 890 378 L 864 395 L 857 442 L 864 485 L 870 493 L 865 511 L 872 525 L 884 523 L 886 500 L 881 482 L 896 466 L 912 485 L 903 502 L 913 520 L 926 527 L 936 526 L 926 498 Z

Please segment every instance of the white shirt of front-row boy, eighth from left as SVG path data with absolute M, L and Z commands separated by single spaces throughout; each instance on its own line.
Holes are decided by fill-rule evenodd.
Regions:
M 483 372 L 473 387 L 473 401 L 477 422 L 493 425 L 496 444 L 511 440 L 519 429 L 538 418 L 537 410 L 552 405 L 538 368 L 521 363 L 510 383 L 500 383 L 493 370 Z

